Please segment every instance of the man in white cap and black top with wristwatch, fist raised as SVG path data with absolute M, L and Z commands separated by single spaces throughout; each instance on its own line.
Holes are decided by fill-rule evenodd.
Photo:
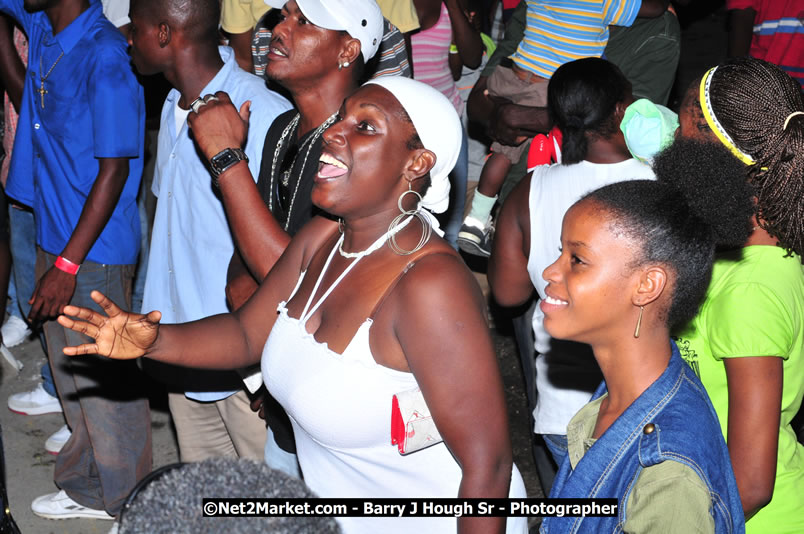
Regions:
M 290 93 L 296 109 L 277 117 L 268 130 L 256 186 L 245 162 L 234 163 L 218 177 L 237 246 L 227 288 L 235 309 L 265 278 L 290 238 L 313 217 L 316 208 L 310 192 L 321 156 L 321 133 L 357 89 L 363 67 L 383 36 L 383 16 L 374 0 L 266 3 L 282 9 L 271 37 L 266 75 Z M 241 148 L 248 131 L 248 105 L 238 113 L 225 93 L 216 96 L 219 100 L 188 117 L 198 146 L 210 159 L 224 149 Z M 259 386 L 261 380 L 253 383 Z M 272 400 L 266 406 L 269 432 L 274 434 L 267 440 L 266 457 L 280 455 L 268 450 L 274 443 L 294 452 L 287 416 Z

